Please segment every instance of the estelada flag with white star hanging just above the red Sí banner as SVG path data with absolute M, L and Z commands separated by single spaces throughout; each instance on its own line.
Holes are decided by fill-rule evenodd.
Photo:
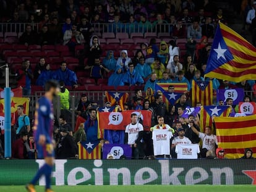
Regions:
M 111 106 L 119 104 L 122 111 L 124 111 L 124 104 L 128 101 L 128 97 L 128 93 L 105 91 L 105 102 L 111 102 Z

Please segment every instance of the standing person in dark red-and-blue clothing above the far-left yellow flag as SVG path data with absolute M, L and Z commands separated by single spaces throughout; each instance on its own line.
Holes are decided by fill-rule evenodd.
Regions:
M 30 69 L 30 61 L 22 62 L 21 69 L 17 70 L 15 76 L 18 80 L 18 85 L 22 86 L 22 95 L 30 96 L 31 94 L 31 80 L 33 79 L 32 70 Z

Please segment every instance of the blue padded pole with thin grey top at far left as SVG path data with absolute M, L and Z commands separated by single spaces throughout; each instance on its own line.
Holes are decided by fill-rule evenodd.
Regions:
M 12 157 L 11 149 L 11 88 L 9 87 L 9 67 L 6 66 L 6 88 L 4 88 L 4 157 Z M 2 67 L 4 67 L 2 66 Z

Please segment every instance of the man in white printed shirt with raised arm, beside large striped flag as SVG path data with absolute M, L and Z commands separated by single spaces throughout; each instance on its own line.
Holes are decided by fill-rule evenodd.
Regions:
M 200 155 L 202 158 L 206 158 L 207 151 L 213 151 L 215 153 L 216 146 L 218 146 L 218 141 L 216 135 L 211 134 L 211 128 L 205 127 L 205 133 L 201 133 L 198 131 L 192 123 L 190 123 L 190 128 L 194 133 L 198 135 L 198 137 L 202 140 L 202 150 Z

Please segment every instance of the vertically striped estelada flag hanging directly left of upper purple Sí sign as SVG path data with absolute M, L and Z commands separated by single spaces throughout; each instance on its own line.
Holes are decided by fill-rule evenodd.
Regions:
M 202 106 L 211 106 L 213 104 L 213 82 L 192 80 L 192 106 L 200 102 Z

